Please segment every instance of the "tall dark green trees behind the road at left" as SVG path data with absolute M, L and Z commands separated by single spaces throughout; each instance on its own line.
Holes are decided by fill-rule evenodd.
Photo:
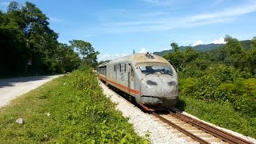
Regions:
M 96 66 L 98 52 L 89 42 L 58 42 L 49 18 L 33 3 L 10 2 L 0 10 L 0 77 L 22 74 L 58 74 L 81 63 Z

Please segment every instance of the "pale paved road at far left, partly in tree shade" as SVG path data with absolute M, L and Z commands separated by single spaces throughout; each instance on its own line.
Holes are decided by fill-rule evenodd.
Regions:
M 0 107 L 61 75 L 0 79 Z

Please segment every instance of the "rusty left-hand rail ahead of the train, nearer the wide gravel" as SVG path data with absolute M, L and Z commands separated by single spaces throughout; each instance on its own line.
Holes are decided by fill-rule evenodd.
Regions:
M 168 125 L 174 127 L 175 129 L 181 131 L 183 134 L 186 134 L 187 136 L 189 136 L 190 138 L 194 139 L 197 142 L 203 143 L 203 144 L 209 144 L 209 142 L 206 142 L 205 140 L 203 140 L 202 138 L 199 138 L 198 136 L 190 133 L 189 131 L 183 129 L 182 127 L 174 124 L 174 122 L 170 122 L 169 120 L 167 120 L 166 118 L 163 118 L 162 116 L 160 116 L 159 114 L 156 113 L 152 113 L 155 117 L 161 119 L 163 122 L 166 122 Z

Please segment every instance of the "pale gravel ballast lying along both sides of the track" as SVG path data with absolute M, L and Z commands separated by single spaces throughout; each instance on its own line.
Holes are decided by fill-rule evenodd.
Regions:
M 190 141 L 191 139 L 188 139 L 186 136 L 184 137 L 184 134 L 180 134 L 178 130 L 175 130 L 174 128 L 166 128 L 166 126 L 164 126 L 162 123 L 154 121 L 154 117 L 152 115 L 142 112 L 142 110 L 126 101 L 125 98 L 122 98 L 114 91 L 110 90 L 110 88 L 104 85 L 102 82 L 100 82 L 100 86 L 102 86 L 103 93 L 106 94 L 106 97 L 110 98 L 112 102 L 117 103 L 116 109 L 120 110 L 124 117 L 129 118 L 129 122 L 134 125 L 135 132 L 142 137 L 149 138 L 150 143 L 197 143 Z M 183 114 L 187 113 L 184 112 Z M 190 114 L 187 115 L 192 116 Z M 194 116 L 192 117 L 196 118 Z M 206 123 L 210 124 L 209 122 Z M 210 125 L 214 126 L 213 124 Z M 218 128 L 240 138 L 244 138 L 247 141 L 256 143 L 254 138 L 246 137 L 232 130 L 226 130 L 221 127 Z

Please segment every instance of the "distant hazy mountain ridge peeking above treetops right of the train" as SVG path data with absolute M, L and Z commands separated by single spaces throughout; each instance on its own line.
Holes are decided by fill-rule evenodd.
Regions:
M 250 49 L 250 40 L 245 40 L 245 41 L 240 41 L 242 46 L 248 50 Z M 224 47 L 225 44 L 214 44 L 214 43 L 210 43 L 207 45 L 198 45 L 198 46 L 193 46 L 192 48 L 194 50 L 198 50 L 198 51 L 209 51 L 209 50 L 215 50 L 218 48 L 222 48 Z M 179 50 L 186 50 L 186 46 L 179 46 Z M 167 53 L 171 53 L 174 50 L 162 50 L 160 52 L 154 52 L 153 54 L 159 55 L 159 56 L 163 56 Z

